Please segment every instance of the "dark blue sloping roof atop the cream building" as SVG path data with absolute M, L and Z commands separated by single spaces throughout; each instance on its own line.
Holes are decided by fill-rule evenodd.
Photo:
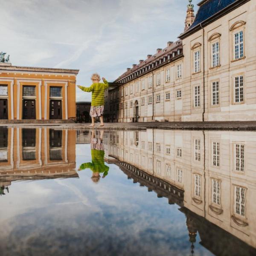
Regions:
M 189 29 L 192 29 L 236 1 L 237 0 L 208 0 L 199 7 L 195 20 Z

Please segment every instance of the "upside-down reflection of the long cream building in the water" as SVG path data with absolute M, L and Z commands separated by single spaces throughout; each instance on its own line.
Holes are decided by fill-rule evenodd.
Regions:
M 178 204 L 193 253 L 256 255 L 256 133 L 239 131 L 113 131 L 105 160 Z

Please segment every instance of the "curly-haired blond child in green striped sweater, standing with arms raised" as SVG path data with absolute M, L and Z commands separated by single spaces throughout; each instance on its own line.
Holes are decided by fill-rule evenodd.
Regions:
M 104 111 L 104 92 L 108 88 L 108 81 L 102 77 L 102 80 L 104 82 L 100 83 L 100 76 L 95 73 L 92 75 L 91 80 L 93 84 L 90 87 L 83 87 L 81 85 L 78 85 L 81 90 L 84 92 L 93 92 L 92 93 L 92 104 L 90 109 L 90 116 L 92 117 L 92 124 L 90 126 L 94 126 L 95 117 L 99 116 L 100 119 L 100 125 L 104 126 L 103 123 L 103 111 Z

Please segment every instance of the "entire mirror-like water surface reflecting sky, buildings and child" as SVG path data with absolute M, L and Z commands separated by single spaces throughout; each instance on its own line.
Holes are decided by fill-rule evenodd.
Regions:
M 26 133 L 34 136 L 34 131 L 9 128 L 6 137 L 0 138 L 4 142 L 0 145 L 3 255 L 233 255 L 232 250 L 242 255 L 255 253 L 255 206 L 249 204 L 255 195 L 253 132 L 105 131 L 93 136 L 90 131 L 63 130 L 60 135 L 41 128 L 31 139 L 35 145 L 24 142 L 29 138 Z M 244 145 L 245 175 L 232 176 L 233 171 L 227 170 L 227 152 L 224 158 L 220 154 L 219 169 L 212 169 L 207 154 L 212 138 L 221 143 L 221 153 L 226 145 L 233 152 L 233 142 L 235 148 L 236 144 Z M 197 139 L 202 166 L 194 163 Z M 152 143 L 152 150 L 148 143 Z M 170 145 L 170 154 L 165 153 L 169 152 L 166 145 Z M 185 158 L 177 160 L 177 148 Z M 84 163 L 101 165 L 93 150 L 104 151 L 104 166 L 109 167 L 104 178 L 104 172 L 97 167 L 81 168 Z M 27 155 L 33 159 L 27 160 Z M 152 166 L 148 160 L 151 158 Z M 182 183 L 175 176 L 179 173 L 167 175 L 167 162 L 172 170 L 182 167 Z M 229 175 L 223 173 L 223 167 Z M 242 161 L 239 168 L 243 168 Z M 97 171 L 100 178 L 95 182 L 92 177 L 98 175 Z M 194 195 L 199 191 L 192 186 L 195 174 L 202 175 L 200 182 L 197 180 L 201 199 Z M 220 207 L 211 203 L 210 177 L 221 180 Z M 246 189 L 246 202 L 239 199 L 239 212 L 245 212 L 241 217 L 233 212 L 234 194 L 223 195 L 227 179 L 232 185 L 227 190 L 231 191 L 238 178 L 243 181 L 239 187 Z M 239 193 L 242 195 L 242 190 Z M 230 203 L 226 207 L 227 201 Z M 214 211 L 209 205 L 215 207 Z M 223 212 L 217 214 L 219 209 Z

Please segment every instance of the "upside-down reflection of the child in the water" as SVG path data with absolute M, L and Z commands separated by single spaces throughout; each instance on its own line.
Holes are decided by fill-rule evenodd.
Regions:
M 102 144 L 103 140 L 103 133 L 104 131 L 100 131 L 100 138 L 95 138 L 95 132 L 92 130 L 92 137 L 91 137 L 91 155 L 92 155 L 92 162 L 91 163 L 82 163 L 79 167 L 79 171 L 90 168 L 93 171 L 93 175 L 91 179 L 93 182 L 97 183 L 100 179 L 100 173 L 103 173 L 102 178 L 105 178 L 108 175 L 108 166 L 105 166 L 104 162 L 104 146 Z

